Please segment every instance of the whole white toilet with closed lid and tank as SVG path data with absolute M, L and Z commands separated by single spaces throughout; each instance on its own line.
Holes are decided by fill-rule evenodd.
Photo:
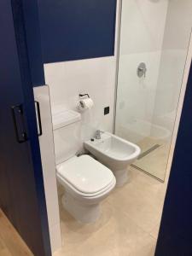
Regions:
M 81 145 L 80 117 L 71 110 L 53 115 L 56 176 L 65 188 L 63 207 L 80 222 L 92 223 L 99 218 L 100 202 L 115 187 L 116 179 L 89 155 L 75 155 Z

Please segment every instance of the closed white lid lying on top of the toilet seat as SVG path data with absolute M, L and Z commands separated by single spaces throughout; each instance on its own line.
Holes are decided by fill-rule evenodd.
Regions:
M 57 172 L 84 194 L 99 192 L 113 182 L 113 172 L 89 155 L 65 161 L 57 166 Z

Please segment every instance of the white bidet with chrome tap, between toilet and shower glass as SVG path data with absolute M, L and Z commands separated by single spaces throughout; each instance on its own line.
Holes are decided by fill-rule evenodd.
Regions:
M 102 132 L 100 139 L 85 142 L 84 148 L 113 171 L 117 186 L 122 186 L 127 182 L 127 167 L 141 153 L 141 149 L 136 144 L 127 142 L 109 132 Z

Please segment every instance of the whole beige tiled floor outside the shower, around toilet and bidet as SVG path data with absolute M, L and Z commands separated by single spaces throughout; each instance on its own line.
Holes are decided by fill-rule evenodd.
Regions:
M 165 192 L 166 183 L 130 168 L 130 182 L 102 202 L 95 224 L 79 224 L 61 207 L 63 248 L 54 256 L 153 256 Z

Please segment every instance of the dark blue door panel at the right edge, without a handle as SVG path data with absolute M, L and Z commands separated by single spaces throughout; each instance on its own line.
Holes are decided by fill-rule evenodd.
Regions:
M 192 65 L 155 256 L 192 255 Z

